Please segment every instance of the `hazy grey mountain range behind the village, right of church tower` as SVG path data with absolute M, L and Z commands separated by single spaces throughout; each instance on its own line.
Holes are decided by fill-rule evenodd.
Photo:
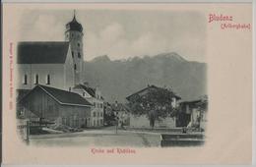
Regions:
M 84 81 L 99 86 L 105 101 L 125 97 L 149 84 L 171 88 L 182 100 L 207 94 L 207 64 L 188 61 L 175 52 L 110 60 L 107 55 L 85 62 Z

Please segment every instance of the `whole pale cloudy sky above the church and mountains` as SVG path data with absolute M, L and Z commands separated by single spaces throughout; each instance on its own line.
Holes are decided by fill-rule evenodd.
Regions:
M 73 10 L 27 10 L 21 16 L 21 41 L 64 41 Z M 176 52 L 205 62 L 206 18 L 199 12 L 76 10 L 84 30 L 85 60 L 107 55 L 111 60 Z

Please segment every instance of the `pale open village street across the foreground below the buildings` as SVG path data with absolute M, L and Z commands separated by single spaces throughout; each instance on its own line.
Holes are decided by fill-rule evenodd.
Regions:
M 160 134 L 139 133 L 108 127 L 80 133 L 31 136 L 30 144 L 38 146 L 160 146 Z

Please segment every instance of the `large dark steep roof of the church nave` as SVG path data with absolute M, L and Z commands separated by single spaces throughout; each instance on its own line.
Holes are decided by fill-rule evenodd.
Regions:
M 69 49 L 66 41 L 19 42 L 18 64 L 64 64 Z

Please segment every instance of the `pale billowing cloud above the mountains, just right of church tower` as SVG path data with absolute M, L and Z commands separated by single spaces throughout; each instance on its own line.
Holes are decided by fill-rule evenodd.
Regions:
M 86 60 L 107 54 L 111 59 L 125 59 L 134 56 L 153 55 L 164 52 L 166 41 L 164 38 L 147 31 L 128 40 L 128 33 L 124 28 L 113 23 L 103 28 L 98 34 L 89 32 L 85 38 L 87 43 Z

